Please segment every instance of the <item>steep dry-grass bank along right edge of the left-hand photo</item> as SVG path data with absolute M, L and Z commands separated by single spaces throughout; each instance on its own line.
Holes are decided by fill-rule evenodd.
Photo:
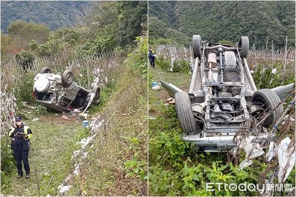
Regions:
M 70 196 L 147 195 L 147 83 L 131 70 L 120 76 L 102 115 L 106 130 L 87 148 Z

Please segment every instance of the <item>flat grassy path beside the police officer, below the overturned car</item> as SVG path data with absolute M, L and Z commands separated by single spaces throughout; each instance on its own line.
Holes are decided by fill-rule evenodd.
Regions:
M 72 168 L 71 156 L 79 148 L 80 138 L 85 132 L 82 124 L 76 122 L 76 117 L 66 120 L 61 116 L 62 114 L 58 116 L 49 114 L 38 117 L 37 121 L 32 121 L 32 117 L 24 120 L 34 135 L 31 140 L 32 151 L 29 155 L 31 178 L 15 178 L 17 175 L 15 168 L 13 175 L 7 177 L 11 180 L 13 187 L 1 190 L 2 195 L 38 196 L 37 182 L 42 195 L 52 175 L 54 177 L 45 196 L 55 194 L 56 188 Z

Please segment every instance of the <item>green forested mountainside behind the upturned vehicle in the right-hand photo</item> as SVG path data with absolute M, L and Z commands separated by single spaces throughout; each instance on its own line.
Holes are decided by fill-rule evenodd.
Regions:
M 233 43 L 248 36 L 257 47 L 268 37 L 276 48 L 287 35 L 295 46 L 295 1 L 149 1 L 149 41 L 188 45 L 193 34 Z

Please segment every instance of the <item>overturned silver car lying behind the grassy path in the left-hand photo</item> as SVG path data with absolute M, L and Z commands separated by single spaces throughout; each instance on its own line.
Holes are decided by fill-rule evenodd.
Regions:
M 85 111 L 101 100 L 98 86 L 87 90 L 74 82 L 71 70 L 54 74 L 47 67 L 35 76 L 33 96 L 41 105 L 57 112 Z

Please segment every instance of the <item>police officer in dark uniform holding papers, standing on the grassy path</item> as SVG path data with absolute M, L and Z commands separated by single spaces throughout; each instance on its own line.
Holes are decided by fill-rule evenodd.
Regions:
M 12 137 L 11 149 L 13 149 L 16 160 L 16 168 L 18 172 L 17 178 L 21 178 L 23 176 L 22 161 L 26 171 L 25 177 L 27 179 L 30 178 L 28 156 L 30 150 L 29 143 L 32 136 L 33 133 L 30 127 L 24 125 L 21 116 L 16 116 L 14 125 L 9 129 L 9 137 Z

